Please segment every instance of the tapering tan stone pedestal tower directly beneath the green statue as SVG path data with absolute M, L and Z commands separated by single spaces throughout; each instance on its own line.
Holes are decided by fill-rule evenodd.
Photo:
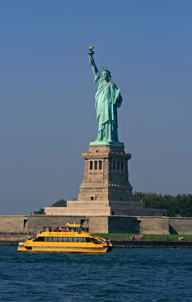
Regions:
M 85 160 L 84 180 L 78 201 L 127 201 L 134 203 L 128 179 L 130 153 L 120 145 L 90 145 L 82 153 Z

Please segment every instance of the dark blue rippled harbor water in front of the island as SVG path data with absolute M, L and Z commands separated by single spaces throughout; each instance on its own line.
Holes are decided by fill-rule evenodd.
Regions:
M 192 301 L 191 249 L 106 254 L 18 253 L 0 247 L 1 301 Z

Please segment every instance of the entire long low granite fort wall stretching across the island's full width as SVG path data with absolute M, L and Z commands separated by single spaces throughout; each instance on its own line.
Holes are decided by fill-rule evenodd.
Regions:
M 90 233 L 192 234 L 192 217 L 28 215 L 0 216 L 0 232 L 36 232 L 43 226 L 81 223 Z

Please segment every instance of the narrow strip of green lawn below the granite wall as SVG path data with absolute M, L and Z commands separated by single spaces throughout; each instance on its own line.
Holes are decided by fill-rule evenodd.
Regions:
M 94 235 L 99 236 L 101 238 L 120 238 L 120 239 L 126 239 L 129 238 L 129 236 L 133 236 L 133 235 L 138 235 L 138 234 L 119 234 L 119 233 L 94 233 Z M 184 239 L 191 239 L 192 240 L 192 235 L 162 235 L 162 234 L 139 234 L 139 235 L 143 235 L 145 239 L 158 239 L 159 236 L 161 239 L 178 239 L 178 237 L 183 237 Z

